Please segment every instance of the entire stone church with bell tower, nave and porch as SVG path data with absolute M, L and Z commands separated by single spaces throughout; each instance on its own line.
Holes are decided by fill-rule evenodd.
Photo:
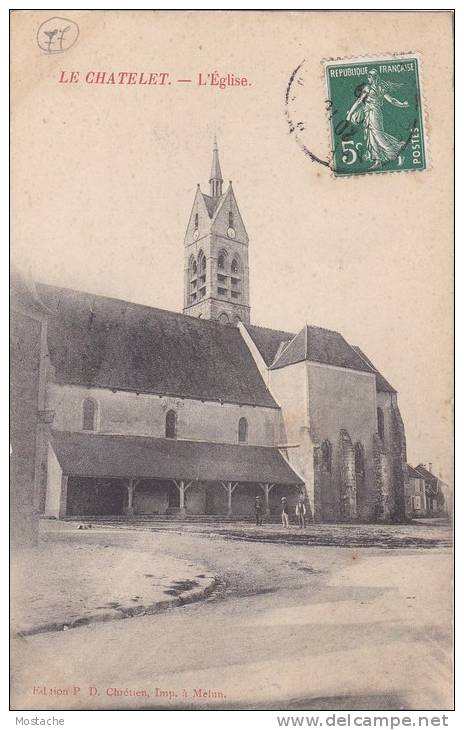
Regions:
M 216 141 L 184 240 L 183 313 L 37 285 L 37 493 L 50 517 L 404 517 L 397 393 L 338 332 L 251 324 L 248 247 Z M 180 261 L 179 261 L 180 265 Z

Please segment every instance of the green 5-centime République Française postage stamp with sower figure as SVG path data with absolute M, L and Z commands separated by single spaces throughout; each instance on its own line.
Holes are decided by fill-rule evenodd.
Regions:
M 337 177 L 427 167 L 420 59 L 324 61 Z

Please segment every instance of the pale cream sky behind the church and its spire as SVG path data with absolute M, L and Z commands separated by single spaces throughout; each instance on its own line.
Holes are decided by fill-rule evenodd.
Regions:
M 216 133 L 250 237 L 252 322 L 307 322 L 361 347 L 399 392 L 410 463 L 449 480 L 449 14 L 121 12 L 69 11 L 79 37 L 56 55 L 35 41 L 49 14 L 14 16 L 13 261 L 40 281 L 180 311 L 185 228 L 196 184 L 208 191 Z M 321 60 L 382 54 L 393 37 L 422 54 L 431 166 L 334 179 L 289 133 L 290 75 L 304 58 L 307 135 L 327 156 Z M 72 70 L 77 84 L 58 82 Z M 87 84 L 92 70 L 172 83 Z M 196 84 L 216 71 L 247 85 Z

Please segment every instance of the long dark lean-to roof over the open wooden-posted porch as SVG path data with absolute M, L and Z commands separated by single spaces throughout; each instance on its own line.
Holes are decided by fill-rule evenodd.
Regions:
M 68 476 L 303 483 L 269 446 L 71 431 L 53 431 L 51 443 Z

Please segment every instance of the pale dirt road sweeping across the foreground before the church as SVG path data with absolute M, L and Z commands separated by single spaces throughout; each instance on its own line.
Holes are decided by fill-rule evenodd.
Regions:
M 155 541 L 160 556 L 207 565 L 222 588 L 155 616 L 15 639 L 15 708 L 451 707 L 449 548 L 246 542 L 181 528 L 79 539 L 128 550 Z

